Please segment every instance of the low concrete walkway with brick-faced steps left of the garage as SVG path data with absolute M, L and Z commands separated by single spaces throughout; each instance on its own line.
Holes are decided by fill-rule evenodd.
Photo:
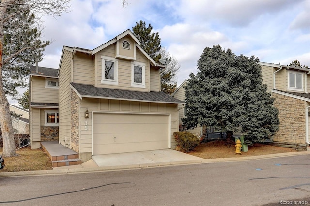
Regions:
M 53 167 L 81 164 L 78 153 L 58 142 L 41 142 L 41 147 L 52 161 Z

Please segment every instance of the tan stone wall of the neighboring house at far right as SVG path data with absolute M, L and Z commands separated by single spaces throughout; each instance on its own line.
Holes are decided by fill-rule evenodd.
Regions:
M 277 142 L 306 142 L 306 102 L 293 97 L 272 93 L 274 106 L 279 110 L 279 131 L 273 140 Z

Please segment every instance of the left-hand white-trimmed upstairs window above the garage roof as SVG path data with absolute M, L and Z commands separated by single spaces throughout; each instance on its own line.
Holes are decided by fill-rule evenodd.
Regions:
M 101 56 L 102 59 L 102 77 L 101 83 L 118 85 L 117 81 L 117 59 Z

